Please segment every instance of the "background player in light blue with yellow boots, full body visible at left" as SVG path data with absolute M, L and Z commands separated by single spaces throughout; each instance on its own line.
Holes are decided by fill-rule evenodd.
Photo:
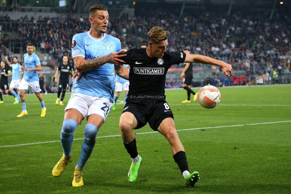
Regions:
M 19 85 L 20 90 L 20 100 L 22 112 L 17 117 L 22 117 L 27 115 L 26 110 L 26 101 L 24 94 L 30 86 L 35 95 L 38 97 L 39 102 L 41 103 L 41 117 L 44 117 L 47 111 L 47 108 L 44 105 L 44 98 L 41 96 L 41 88 L 39 86 L 39 79 L 37 71 L 41 70 L 41 62 L 39 61 L 38 56 L 33 52 L 33 44 L 28 43 L 26 47 L 27 53 L 23 55 L 24 63 L 21 66 L 21 69 L 24 69 L 23 78 Z

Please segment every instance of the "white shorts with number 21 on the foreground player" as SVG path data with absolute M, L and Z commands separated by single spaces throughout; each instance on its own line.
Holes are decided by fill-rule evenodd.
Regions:
M 73 93 L 65 108 L 65 112 L 68 109 L 74 108 L 78 110 L 84 118 L 88 115 L 97 114 L 103 117 L 104 123 L 112 105 L 113 103 L 110 102 L 108 98 Z

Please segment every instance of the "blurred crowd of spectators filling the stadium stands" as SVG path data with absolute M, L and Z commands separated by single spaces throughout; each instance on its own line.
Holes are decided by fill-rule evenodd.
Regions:
M 275 14 L 270 21 L 269 14 L 263 12 L 245 15 L 237 12 L 227 16 L 226 13 L 196 10 L 191 13 L 184 11 L 179 17 L 179 11 L 136 9 L 135 16 L 123 14 L 119 18 L 110 18 L 108 34 L 120 39 L 122 47 L 131 49 L 136 47 L 137 37 L 139 42 L 147 42 L 148 30 L 161 26 L 168 31 L 169 50 L 188 48 L 192 54 L 210 56 L 232 64 L 234 71 L 244 70 L 246 76 L 273 76 L 275 69 L 278 75 L 290 74 L 291 20 L 288 16 Z M 88 31 L 91 26 L 88 17 L 83 16 L 40 16 L 37 23 L 34 20 L 33 16 L 17 21 L 11 20 L 8 15 L 0 16 L 0 21 L 10 23 L 14 31 L 20 34 L 0 41 L 1 55 L 8 55 L 5 47 L 10 41 L 23 42 L 24 45 L 32 42 L 42 52 L 50 53 L 60 61 L 64 55 L 70 60 L 72 37 Z M 123 35 L 124 28 L 127 36 Z M 178 65 L 174 67 L 179 68 Z

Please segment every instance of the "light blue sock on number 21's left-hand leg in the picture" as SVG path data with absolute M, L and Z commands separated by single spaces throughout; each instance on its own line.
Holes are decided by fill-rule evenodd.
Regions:
M 61 144 L 65 155 L 69 155 L 72 150 L 73 133 L 78 126 L 73 119 L 64 119 L 61 130 Z

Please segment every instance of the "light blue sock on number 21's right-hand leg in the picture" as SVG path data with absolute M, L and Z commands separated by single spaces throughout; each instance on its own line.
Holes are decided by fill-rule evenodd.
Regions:
M 87 123 L 85 125 L 84 141 L 81 147 L 81 154 L 78 160 L 78 166 L 84 167 L 87 160 L 89 159 L 96 142 L 96 134 L 98 127 L 93 124 Z

